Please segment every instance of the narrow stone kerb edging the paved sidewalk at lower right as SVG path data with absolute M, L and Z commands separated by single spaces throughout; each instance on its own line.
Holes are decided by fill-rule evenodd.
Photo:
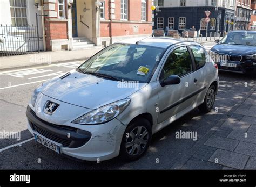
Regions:
M 204 143 L 210 138 L 210 136 L 215 132 L 214 129 L 217 129 L 221 125 L 224 124 L 224 122 L 230 118 L 231 114 L 235 112 L 235 110 L 238 109 L 238 107 L 245 102 L 245 100 L 252 95 L 252 93 L 256 90 L 256 85 L 254 85 L 251 90 L 238 102 L 236 103 L 230 111 L 228 111 L 223 118 L 221 118 L 210 130 L 208 130 L 201 138 L 200 140 L 184 155 L 180 158 L 180 160 L 173 164 L 173 166 L 170 169 L 180 169 L 184 166 L 184 164 L 190 159 L 191 156 L 194 155 L 194 153 L 197 152 L 197 150 L 204 145 Z

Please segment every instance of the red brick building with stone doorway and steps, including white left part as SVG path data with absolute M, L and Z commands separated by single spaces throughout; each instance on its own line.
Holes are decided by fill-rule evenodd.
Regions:
M 1 0 L 0 4 L 0 24 L 12 25 L 24 35 L 38 14 L 41 51 L 102 47 L 152 33 L 153 0 Z

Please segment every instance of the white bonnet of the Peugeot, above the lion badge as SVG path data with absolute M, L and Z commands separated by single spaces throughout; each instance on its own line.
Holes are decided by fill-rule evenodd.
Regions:
M 147 85 L 139 83 L 134 88 L 120 88 L 120 82 L 93 75 L 70 71 L 71 75 L 58 77 L 43 84 L 42 93 L 65 103 L 97 109 L 117 100 L 125 99 Z

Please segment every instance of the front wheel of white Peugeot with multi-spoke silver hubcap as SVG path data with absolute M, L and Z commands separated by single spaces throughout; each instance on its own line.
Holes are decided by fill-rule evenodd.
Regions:
M 145 118 L 134 120 L 124 132 L 120 147 L 120 158 L 125 161 L 139 159 L 149 148 L 151 140 L 152 128 L 149 121 Z

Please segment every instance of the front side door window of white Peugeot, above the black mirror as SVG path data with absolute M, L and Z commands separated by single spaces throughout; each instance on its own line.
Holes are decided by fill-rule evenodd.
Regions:
M 192 64 L 190 53 L 187 47 L 179 47 L 175 49 L 167 58 L 164 68 L 163 75 L 164 78 L 170 75 L 184 76 L 192 71 Z

